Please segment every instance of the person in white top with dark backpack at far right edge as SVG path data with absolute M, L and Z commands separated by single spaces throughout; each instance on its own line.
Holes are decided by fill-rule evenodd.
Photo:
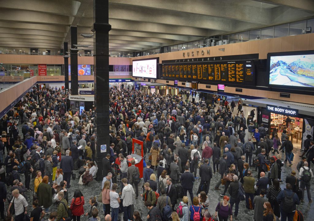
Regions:
M 300 188 L 302 190 L 302 198 L 300 200 L 303 201 L 304 189 L 306 188 L 307 199 L 309 200 L 309 203 L 310 203 L 310 202 L 312 202 L 312 199 L 311 199 L 311 178 L 313 178 L 313 172 L 309 168 L 307 161 L 305 161 L 303 163 L 303 167 L 300 168 L 299 178 L 301 180 Z

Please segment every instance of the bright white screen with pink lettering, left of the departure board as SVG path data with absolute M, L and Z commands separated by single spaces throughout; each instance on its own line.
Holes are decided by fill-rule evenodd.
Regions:
M 132 76 L 157 79 L 158 58 L 133 60 Z

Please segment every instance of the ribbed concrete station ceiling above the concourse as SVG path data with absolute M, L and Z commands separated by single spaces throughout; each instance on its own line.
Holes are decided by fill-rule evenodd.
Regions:
M 0 47 L 63 48 L 70 26 L 90 45 L 92 0 L 0 0 Z M 109 0 L 109 48 L 141 51 L 308 18 L 313 0 Z

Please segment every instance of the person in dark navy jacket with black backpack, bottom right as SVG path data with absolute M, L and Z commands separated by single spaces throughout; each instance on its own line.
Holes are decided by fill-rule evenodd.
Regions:
M 277 196 L 277 202 L 280 204 L 281 220 L 292 221 L 295 215 L 296 205 L 300 204 L 297 194 L 291 190 L 291 184 L 286 184 L 286 188 L 281 190 Z

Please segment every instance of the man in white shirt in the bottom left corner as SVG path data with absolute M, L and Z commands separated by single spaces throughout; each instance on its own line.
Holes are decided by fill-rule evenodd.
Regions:
M 12 204 L 14 203 L 14 209 L 15 209 L 15 220 L 16 221 L 22 221 L 24 218 L 24 214 L 27 214 L 27 206 L 28 203 L 24 196 L 19 194 L 19 190 L 13 190 L 12 191 L 13 198 L 10 202 L 9 208 L 8 208 L 8 215 L 10 214 L 10 208 L 12 207 Z M 25 212 L 24 212 L 25 209 Z

